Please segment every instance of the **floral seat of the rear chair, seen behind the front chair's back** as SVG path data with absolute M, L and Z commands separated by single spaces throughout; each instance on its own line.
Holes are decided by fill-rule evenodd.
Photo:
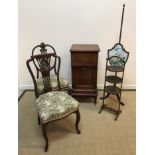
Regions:
M 60 77 L 60 88 L 68 88 L 69 87 L 69 82 L 65 80 L 64 78 Z M 37 82 L 37 89 L 38 92 L 42 92 L 44 89 L 44 84 L 42 78 L 39 78 L 36 80 Z M 51 82 L 51 87 L 53 90 L 58 90 L 58 80 L 56 75 L 51 75 L 50 76 L 50 82 Z

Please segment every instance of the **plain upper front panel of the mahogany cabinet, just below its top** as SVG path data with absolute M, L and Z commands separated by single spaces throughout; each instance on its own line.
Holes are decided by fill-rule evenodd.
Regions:
M 73 66 L 96 66 L 97 59 L 98 55 L 96 53 L 79 52 L 71 55 Z

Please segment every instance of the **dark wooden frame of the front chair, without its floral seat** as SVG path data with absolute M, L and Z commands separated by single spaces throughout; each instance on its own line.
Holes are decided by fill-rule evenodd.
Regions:
M 50 65 L 51 57 L 54 58 L 54 65 L 52 65 L 52 66 Z M 59 62 L 58 62 L 58 70 L 56 70 L 56 61 L 57 61 L 57 59 L 59 60 Z M 38 63 L 38 65 L 37 65 L 36 62 Z M 31 56 L 31 58 L 26 61 L 27 68 L 28 68 L 28 70 L 29 70 L 29 72 L 31 74 L 32 79 L 33 79 L 35 96 L 36 96 L 36 99 L 37 99 L 41 94 L 37 90 L 36 78 L 34 76 L 34 72 L 33 72 L 32 68 L 31 68 L 32 67 L 30 65 L 31 63 L 33 63 L 33 65 L 35 66 L 35 69 L 38 72 L 41 72 L 42 78 L 44 79 L 43 80 L 44 92 L 42 93 L 42 94 L 44 94 L 44 93 L 52 91 L 52 87 L 50 85 L 50 71 L 54 70 L 57 77 L 59 77 L 60 57 L 58 57 L 55 53 L 43 53 L 43 54 Z M 57 78 L 57 79 L 59 79 L 59 78 Z M 58 80 L 58 83 L 59 83 L 59 80 Z M 58 84 L 58 87 L 59 87 L 58 90 L 60 90 L 60 83 Z M 72 112 L 72 113 L 76 114 L 75 128 L 76 128 L 77 134 L 80 134 L 81 131 L 78 128 L 78 124 L 80 122 L 79 109 Z M 70 113 L 69 115 L 71 115 L 72 113 Z M 69 116 L 69 115 L 67 115 L 67 116 Z M 65 116 L 65 117 L 67 117 L 67 116 Z M 65 117 L 63 117 L 63 118 L 65 118 Z M 60 118 L 60 119 L 63 119 L 63 118 Z M 57 119 L 57 120 L 60 120 L 60 119 Z M 50 122 L 54 122 L 54 121 L 57 121 L 57 120 L 53 120 L 53 121 L 50 121 Z M 45 139 L 45 152 L 48 151 L 48 137 L 47 137 L 47 130 L 46 129 L 47 129 L 47 125 L 50 122 L 42 123 L 41 120 L 40 120 L 40 117 L 38 115 L 38 124 L 39 125 L 41 124 L 42 134 L 43 134 L 43 137 Z

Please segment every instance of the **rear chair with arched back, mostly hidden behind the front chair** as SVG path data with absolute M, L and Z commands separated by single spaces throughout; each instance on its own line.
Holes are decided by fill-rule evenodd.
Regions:
M 31 56 L 34 56 L 37 54 L 44 54 L 44 53 L 53 53 L 53 54 L 57 55 L 53 46 L 51 46 L 49 44 L 45 44 L 42 42 L 40 45 L 37 45 L 32 49 L 32 55 Z M 60 57 L 58 57 L 58 61 L 61 64 L 61 58 Z M 60 69 L 60 66 L 58 66 L 57 68 Z M 58 78 L 60 81 L 61 90 L 68 90 L 69 89 L 69 82 L 67 80 L 65 80 L 63 77 L 58 76 Z M 50 81 L 51 81 L 51 87 L 54 90 L 58 90 L 57 77 L 55 76 L 55 74 L 50 75 Z M 42 83 L 42 79 L 39 77 L 39 71 L 38 70 L 37 70 L 36 82 L 37 82 L 38 91 L 40 91 L 40 92 L 43 91 L 44 86 Z

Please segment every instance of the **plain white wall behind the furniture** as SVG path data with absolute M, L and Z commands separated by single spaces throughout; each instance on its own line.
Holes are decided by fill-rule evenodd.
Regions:
M 119 41 L 123 4 L 126 4 L 122 44 L 130 52 L 124 88 L 136 87 L 135 0 L 19 0 L 19 88 L 32 86 L 26 68 L 34 46 L 45 42 L 62 59 L 61 76 L 71 82 L 70 47 L 73 43 L 99 44 L 98 88 L 103 88 L 107 49 Z

